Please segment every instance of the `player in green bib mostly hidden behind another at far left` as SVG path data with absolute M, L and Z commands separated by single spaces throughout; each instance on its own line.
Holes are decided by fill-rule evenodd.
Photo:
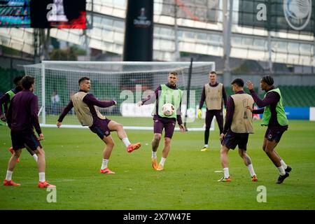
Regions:
M 10 101 L 11 99 L 15 96 L 15 94 L 17 94 L 18 92 L 22 91 L 23 87 L 22 87 L 22 80 L 23 76 L 17 76 L 14 78 L 13 83 L 15 84 L 15 88 L 12 90 L 9 90 L 8 92 L 6 92 L 6 94 L 3 94 L 2 97 L 0 97 L 0 119 L 3 122 L 6 122 L 6 113 L 8 112 L 8 107 L 10 106 Z M 29 151 L 29 154 L 31 154 L 31 156 L 34 158 L 34 160 L 37 162 L 37 155 L 31 151 L 31 149 L 29 147 L 26 147 L 27 151 Z M 11 146 L 10 148 L 8 148 L 8 151 L 10 151 L 11 154 L 14 153 L 13 151 L 13 147 Z M 20 162 L 20 158 L 18 158 L 17 162 Z

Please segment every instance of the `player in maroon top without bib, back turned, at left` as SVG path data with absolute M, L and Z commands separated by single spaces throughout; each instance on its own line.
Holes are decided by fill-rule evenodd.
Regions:
M 54 185 L 45 181 L 45 152 L 39 142 L 44 137 L 38 123 L 38 98 L 33 94 L 34 77 L 24 76 L 21 82 L 24 90 L 15 94 L 6 113 L 6 120 L 11 130 L 12 146 L 15 153 L 8 162 L 8 170 L 3 185 L 20 186 L 19 183 L 12 181 L 12 174 L 16 160 L 22 153 L 22 148 L 28 146 L 38 156 L 38 188 L 55 188 Z M 34 134 L 34 128 L 38 134 L 38 138 Z

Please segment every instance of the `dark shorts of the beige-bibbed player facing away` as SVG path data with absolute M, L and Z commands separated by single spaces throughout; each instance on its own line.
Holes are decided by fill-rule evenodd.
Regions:
M 246 151 L 247 142 L 248 142 L 248 134 L 246 133 L 240 134 L 240 133 L 234 133 L 234 132 L 229 131 L 225 135 L 222 144 L 229 149 L 235 149 L 236 146 L 239 146 L 240 149 L 244 149 L 244 151 Z

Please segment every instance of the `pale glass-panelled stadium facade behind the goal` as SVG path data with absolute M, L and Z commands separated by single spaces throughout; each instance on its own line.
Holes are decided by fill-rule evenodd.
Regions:
M 300 12 L 304 13 L 301 18 L 309 18 L 304 29 L 291 25 L 290 18 L 284 15 L 295 10 L 294 5 L 286 8 L 286 1 L 228 2 L 232 3 L 230 57 L 256 60 L 265 68 L 269 61 L 314 66 L 314 1 L 302 1 L 309 7 L 307 12 Z M 223 57 L 223 3 L 222 0 L 155 0 L 153 59 L 176 61 L 179 52 Z M 50 29 L 50 36 L 122 55 L 126 4 L 125 0 L 88 0 L 87 20 L 92 29 Z M 272 10 L 276 13 L 262 20 L 261 4 L 265 4 L 267 13 Z M 283 26 L 268 27 L 274 24 Z M 34 29 L 2 28 L 0 44 L 34 55 Z M 313 73 L 313 69 L 309 72 Z

